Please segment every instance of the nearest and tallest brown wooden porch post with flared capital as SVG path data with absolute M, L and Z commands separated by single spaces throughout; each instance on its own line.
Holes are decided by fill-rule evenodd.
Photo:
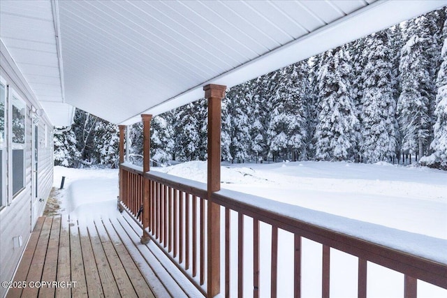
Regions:
M 221 248 L 220 206 L 212 202 L 212 193 L 221 189 L 221 100 L 226 86 L 203 87 L 208 100 L 208 167 L 207 167 L 207 297 L 220 292 Z

